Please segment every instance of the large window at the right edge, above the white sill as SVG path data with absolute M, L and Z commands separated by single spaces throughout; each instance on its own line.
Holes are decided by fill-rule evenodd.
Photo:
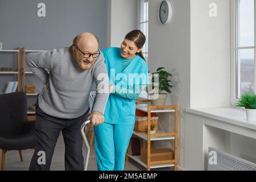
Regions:
M 231 103 L 255 92 L 255 2 L 234 0 L 231 10 Z

